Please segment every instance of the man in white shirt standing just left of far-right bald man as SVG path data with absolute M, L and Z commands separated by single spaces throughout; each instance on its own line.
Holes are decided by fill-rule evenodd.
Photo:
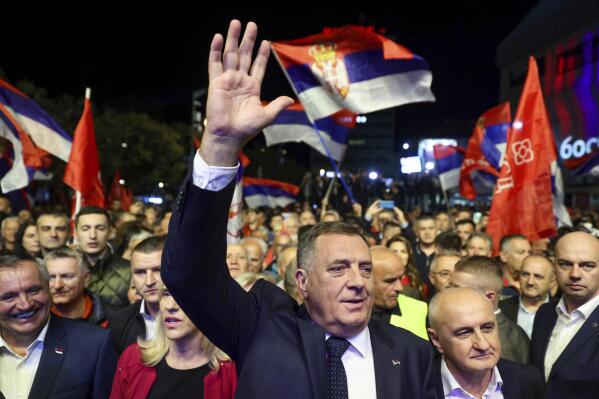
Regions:
M 521 294 L 499 301 L 499 308 L 505 317 L 518 323 L 529 338 L 532 337 L 537 310 L 549 302 L 553 278 L 553 264 L 549 259 L 540 255 L 527 256 L 520 270 Z

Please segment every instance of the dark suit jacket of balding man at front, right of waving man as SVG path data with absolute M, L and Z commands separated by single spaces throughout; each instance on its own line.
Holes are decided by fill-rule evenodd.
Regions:
M 443 399 L 443 382 L 441 381 L 441 356 L 435 359 L 437 381 L 437 397 Z M 535 367 L 499 359 L 497 369 L 503 380 L 501 392 L 505 399 L 543 399 L 543 377 Z

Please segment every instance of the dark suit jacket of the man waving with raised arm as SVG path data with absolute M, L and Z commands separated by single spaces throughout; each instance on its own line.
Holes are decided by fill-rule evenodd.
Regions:
M 246 292 L 225 262 L 234 182 L 219 192 L 189 183 L 179 193 L 162 255 L 162 279 L 196 326 L 238 367 L 238 398 L 324 398 L 325 331 L 283 290 L 259 280 Z M 433 398 L 429 344 L 369 324 L 379 398 Z

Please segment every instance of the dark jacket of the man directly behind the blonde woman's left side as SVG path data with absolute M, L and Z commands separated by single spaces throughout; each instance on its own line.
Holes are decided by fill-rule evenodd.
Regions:
M 119 310 L 109 319 L 108 328 L 119 354 L 136 343 L 137 337 L 146 336 L 146 323 L 139 313 L 140 309 L 141 301 L 138 301 Z

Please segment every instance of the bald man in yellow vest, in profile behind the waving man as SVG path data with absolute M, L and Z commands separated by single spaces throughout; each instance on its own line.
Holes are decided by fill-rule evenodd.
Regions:
M 370 248 L 370 255 L 374 280 L 374 307 L 371 317 L 428 339 L 426 302 L 402 294 L 401 278 L 406 272 L 406 266 L 401 258 L 383 246 Z

